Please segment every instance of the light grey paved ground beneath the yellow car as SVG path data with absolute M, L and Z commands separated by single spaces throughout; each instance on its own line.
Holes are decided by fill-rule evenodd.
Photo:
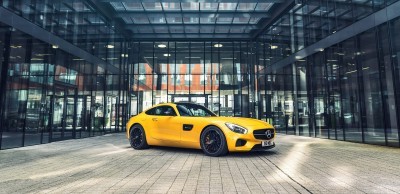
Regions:
M 278 136 L 267 152 L 136 151 L 124 134 L 0 151 L 0 193 L 400 193 L 400 149 Z

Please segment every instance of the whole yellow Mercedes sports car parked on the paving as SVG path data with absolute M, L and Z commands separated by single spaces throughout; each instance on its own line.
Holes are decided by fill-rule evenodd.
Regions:
M 206 155 L 275 147 L 272 125 L 250 118 L 219 117 L 204 106 L 165 103 L 132 117 L 126 137 L 134 149 L 149 145 L 202 149 Z

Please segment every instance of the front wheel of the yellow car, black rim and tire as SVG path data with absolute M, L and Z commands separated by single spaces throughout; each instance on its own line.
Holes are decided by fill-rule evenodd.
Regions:
M 207 127 L 200 136 L 200 146 L 207 156 L 223 156 L 228 153 L 228 146 L 224 133 L 215 126 Z

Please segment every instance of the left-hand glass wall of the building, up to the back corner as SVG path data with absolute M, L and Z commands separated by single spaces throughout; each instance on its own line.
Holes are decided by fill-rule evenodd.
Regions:
M 128 43 L 103 16 L 82 1 L 0 2 L 0 148 L 123 131 Z

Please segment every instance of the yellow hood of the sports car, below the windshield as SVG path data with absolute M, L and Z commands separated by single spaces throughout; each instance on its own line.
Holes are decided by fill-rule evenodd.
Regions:
M 273 128 L 272 125 L 265 121 L 252 119 L 252 118 L 244 118 L 244 117 L 208 117 L 208 119 L 215 122 L 226 122 L 240 125 L 246 128 L 252 129 L 265 129 L 265 128 Z

